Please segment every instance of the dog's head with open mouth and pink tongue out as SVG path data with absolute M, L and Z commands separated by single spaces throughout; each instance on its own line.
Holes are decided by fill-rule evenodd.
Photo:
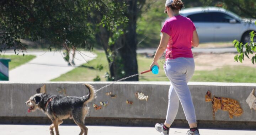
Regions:
M 29 107 L 28 112 L 34 112 L 36 109 L 38 109 L 38 103 L 42 101 L 42 97 L 43 93 L 38 93 L 30 97 L 30 99 L 25 103 Z

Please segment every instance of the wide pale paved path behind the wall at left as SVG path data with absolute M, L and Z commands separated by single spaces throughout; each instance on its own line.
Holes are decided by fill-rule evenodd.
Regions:
M 5 55 L 13 55 L 7 52 Z M 28 52 L 25 55 L 36 55 L 37 57 L 26 64 L 18 66 L 9 71 L 10 82 L 46 82 L 73 70 L 76 66 L 92 60 L 96 55 L 90 52 L 76 54 L 74 62 L 76 66 L 68 66 L 63 59 L 62 52 Z

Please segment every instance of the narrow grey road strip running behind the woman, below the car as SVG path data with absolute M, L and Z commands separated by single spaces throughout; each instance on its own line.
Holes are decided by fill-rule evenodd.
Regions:
M 137 53 L 154 53 L 156 48 L 137 49 Z M 236 53 L 236 48 L 193 48 L 193 53 Z

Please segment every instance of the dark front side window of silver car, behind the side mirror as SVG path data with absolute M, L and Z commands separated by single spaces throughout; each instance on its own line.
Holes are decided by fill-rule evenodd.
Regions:
M 230 15 L 226 13 L 221 13 L 221 12 L 212 12 L 212 17 L 214 22 L 220 22 L 220 23 L 229 23 L 231 19 L 234 19 Z

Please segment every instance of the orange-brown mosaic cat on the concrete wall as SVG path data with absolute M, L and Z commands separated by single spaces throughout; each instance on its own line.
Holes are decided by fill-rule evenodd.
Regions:
M 213 119 L 215 119 L 215 112 L 217 110 L 224 110 L 229 112 L 229 118 L 233 119 L 233 116 L 239 117 L 242 115 L 243 110 L 240 107 L 238 101 L 231 98 L 215 97 L 212 98 L 212 93 L 207 91 L 205 95 L 206 102 L 212 102 L 213 107 Z

